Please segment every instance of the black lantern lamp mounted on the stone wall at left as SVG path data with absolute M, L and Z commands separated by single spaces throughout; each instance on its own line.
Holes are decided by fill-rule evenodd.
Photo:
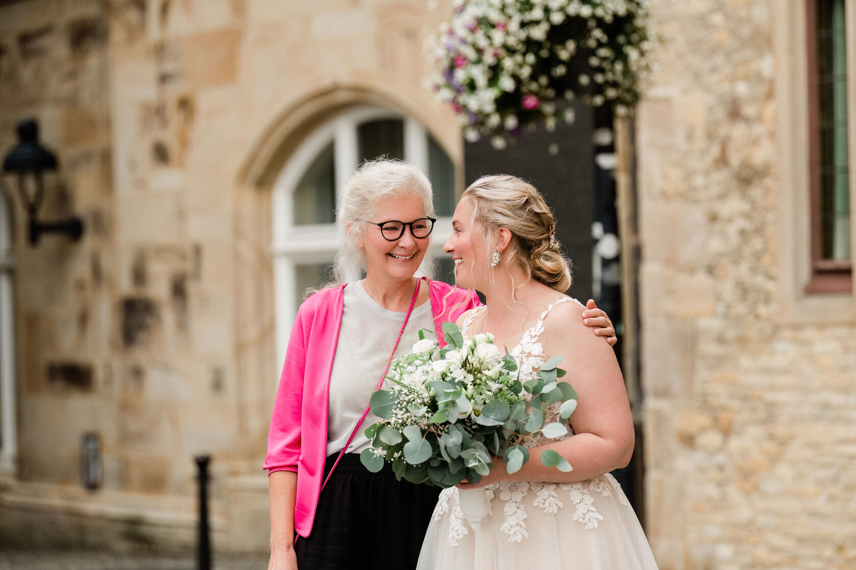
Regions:
M 3 171 L 18 174 L 18 191 L 29 217 L 30 244 L 39 243 L 43 233 L 65 233 L 73 240 L 83 235 L 83 220 L 39 221 L 39 208 L 45 197 L 42 174 L 56 170 L 56 156 L 39 144 L 39 124 L 35 119 L 18 123 L 18 144 L 3 158 Z

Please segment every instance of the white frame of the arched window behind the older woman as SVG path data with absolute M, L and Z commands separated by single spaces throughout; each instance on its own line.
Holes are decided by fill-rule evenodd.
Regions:
M 295 267 L 301 263 L 333 261 L 339 248 L 339 232 L 334 224 L 294 224 L 294 191 L 306 169 L 331 141 L 334 145 L 336 205 L 340 191 L 358 166 L 359 144 L 357 127 L 372 120 L 396 119 L 404 122 L 404 156 L 423 172 L 428 173 L 428 131 L 418 120 L 389 109 L 360 105 L 346 109 L 313 131 L 294 151 L 282 172 L 276 177 L 271 196 L 273 209 L 273 244 L 271 254 L 276 291 L 276 361 L 282 363 L 288 347 L 288 337 L 297 314 Z M 450 216 L 438 218 L 431 232 L 429 250 L 434 256 L 443 254 L 445 238 L 452 232 Z M 441 237 L 442 238 L 438 238 Z M 348 280 L 358 279 L 351 275 Z

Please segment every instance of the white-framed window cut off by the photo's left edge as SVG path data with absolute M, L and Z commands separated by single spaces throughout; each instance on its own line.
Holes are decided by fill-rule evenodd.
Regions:
M 15 318 L 12 224 L 9 203 L 0 191 L 0 472 L 14 473 Z

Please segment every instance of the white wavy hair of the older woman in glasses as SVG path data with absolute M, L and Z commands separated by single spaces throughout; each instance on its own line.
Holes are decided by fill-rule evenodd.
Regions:
M 431 182 L 419 167 L 410 162 L 381 156 L 363 162 L 348 179 L 342 190 L 342 199 L 336 210 L 336 226 L 342 236 L 342 247 L 333 260 L 333 279 L 342 284 L 348 279 L 359 279 L 360 270 L 366 270 L 366 252 L 360 248 L 360 238 L 374 220 L 377 206 L 388 197 L 418 197 L 425 206 L 425 215 L 434 216 L 434 194 Z M 401 220 L 409 221 L 409 220 Z M 429 238 L 430 239 L 430 238 Z M 419 266 L 421 273 L 431 276 L 433 261 L 428 253 Z

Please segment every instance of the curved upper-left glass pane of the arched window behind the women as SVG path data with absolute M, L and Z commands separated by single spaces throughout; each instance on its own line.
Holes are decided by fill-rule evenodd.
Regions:
M 294 225 L 332 224 L 336 220 L 336 172 L 333 143 L 324 147 L 294 189 Z

